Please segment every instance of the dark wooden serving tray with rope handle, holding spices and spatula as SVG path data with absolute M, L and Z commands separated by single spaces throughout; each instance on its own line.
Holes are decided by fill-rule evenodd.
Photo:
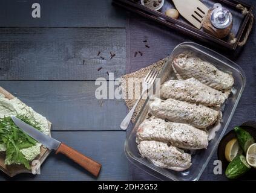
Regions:
M 228 8 L 231 11 L 234 24 L 232 27 L 231 33 L 234 35 L 233 41 L 230 41 L 230 38 L 218 39 L 205 31 L 198 30 L 189 24 L 182 16 L 179 16 L 179 19 L 172 19 L 171 17 L 166 16 L 165 10 L 167 8 L 175 8 L 171 0 L 165 0 L 165 4 L 159 11 L 151 10 L 143 5 L 140 1 L 134 0 L 113 0 L 114 5 L 119 5 L 120 7 L 126 8 L 126 10 L 133 11 L 134 13 L 140 14 L 143 17 L 156 21 L 162 25 L 165 25 L 169 28 L 174 28 L 183 34 L 192 36 L 195 39 L 199 39 L 206 43 L 214 43 L 220 48 L 236 49 L 238 46 L 245 45 L 249 33 L 254 22 L 254 16 L 252 15 L 252 10 L 254 5 L 248 5 L 236 0 L 201 0 L 203 4 L 211 8 L 217 2 L 222 4 L 223 7 Z M 241 6 L 237 7 L 240 4 L 242 7 L 246 8 L 248 12 L 242 14 Z

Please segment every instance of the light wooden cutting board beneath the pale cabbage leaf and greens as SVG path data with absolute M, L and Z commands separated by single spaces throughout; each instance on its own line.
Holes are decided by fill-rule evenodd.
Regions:
M 13 99 L 15 96 L 11 95 L 11 93 L 7 92 L 7 90 L 0 87 L 0 93 L 2 93 L 5 98 Z M 48 121 L 49 128 L 51 128 L 51 122 Z M 42 163 L 47 158 L 47 156 L 50 154 L 51 150 L 48 150 L 47 148 L 44 148 L 41 146 L 41 154 L 36 157 L 36 160 L 39 160 L 39 162 Z M 21 173 L 32 173 L 31 170 L 26 169 L 23 165 L 5 165 L 5 153 L 0 152 L 0 169 L 5 172 L 10 177 L 16 176 L 17 174 Z

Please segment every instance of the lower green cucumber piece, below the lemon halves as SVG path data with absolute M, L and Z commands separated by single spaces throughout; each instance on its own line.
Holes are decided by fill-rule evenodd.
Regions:
M 239 155 L 229 163 L 225 174 L 229 179 L 236 179 L 249 171 L 250 168 L 251 166 L 246 162 L 245 156 Z

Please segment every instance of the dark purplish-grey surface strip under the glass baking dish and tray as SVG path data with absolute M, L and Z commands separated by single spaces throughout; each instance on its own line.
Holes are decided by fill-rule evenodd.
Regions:
M 248 4 L 254 3 L 250 0 L 246 0 L 245 2 Z M 254 14 L 256 14 L 256 10 L 254 10 Z M 146 19 L 142 19 L 132 13 L 130 14 L 128 27 L 130 30 L 128 31 L 129 33 L 126 41 L 127 44 L 130 45 L 130 49 L 127 49 L 127 55 L 130 55 L 130 59 L 127 59 L 126 63 L 127 73 L 137 71 L 140 68 L 148 66 L 149 64 L 166 57 L 171 54 L 172 49 L 174 49 L 179 43 L 186 42 L 188 40 L 194 41 L 189 37 L 182 36 L 176 31 L 160 27 L 160 25 L 154 24 L 154 22 L 147 21 Z M 243 48 L 238 49 L 235 52 L 220 51 L 220 49 L 215 49 L 208 45 L 208 48 L 215 49 L 215 51 L 226 55 L 226 57 L 229 57 L 235 63 L 240 65 L 246 75 L 245 90 L 226 133 L 232 130 L 235 125 L 240 125 L 248 120 L 256 120 L 256 66 L 254 62 L 256 57 L 255 28 L 256 26 L 254 25 L 249 36 L 248 43 L 246 43 Z M 144 43 L 143 40 L 147 40 L 147 42 Z M 195 42 L 199 43 L 198 41 Z M 150 48 L 146 48 L 145 44 L 148 44 Z M 205 44 L 203 45 L 207 46 Z M 137 54 L 137 56 L 134 57 L 135 51 L 142 51 L 143 56 Z M 214 174 L 214 160 L 216 159 L 217 150 L 199 180 L 228 180 L 226 179 L 224 172 L 222 175 Z M 158 180 L 156 177 L 147 174 L 135 165 L 132 166 L 131 170 L 133 172 L 133 180 Z

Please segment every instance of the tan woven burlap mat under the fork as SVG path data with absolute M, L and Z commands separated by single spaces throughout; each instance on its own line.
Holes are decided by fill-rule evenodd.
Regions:
M 158 69 L 159 73 L 160 73 L 162 71 L 162 68 L 165 65 L 165 62 L 167 61 L 167 59 L 168 59 L 168 57 L 166 57 L 165 59 L 159 60 L 158 62 L 153 63 L 152 65 L 150 65 L 146 68 L 142 68 L 139 71 L 122 76 L 122 81 L 121 81 L 122 95 L 123 95 L 123 98 L 125 99 L 126 106 L 128 107 L 129 110 L 131 110 L 133 108 L 137 99 L 129 99 L 128 98 L 128 87 L 129 87 L 128 79 L 136 78 L 136 80 L 138 80 L 138 81 L 134 81 L 134 84 L 140 84 L 140 86 L 139 86 L 140 90 L 136 90 L 137 86 L 133 86 L 133 96 L 139 96 L 140 93 L 138 93 L 138 92 L 142 91 L 142 83 L 139 80 L 146 77 L 146 75 L 152 68 Z M 142 98 L 142 100 L 140 100 L 139 104 L 136 107 L 136 110 L 133 113 L 133 118 L 131 119 L 132 122 L 136 121 L 137 115 L 139 115 L 139 112 L 142 109 L 142 106 L 144 103 L 145 103 L 145 99 Z

